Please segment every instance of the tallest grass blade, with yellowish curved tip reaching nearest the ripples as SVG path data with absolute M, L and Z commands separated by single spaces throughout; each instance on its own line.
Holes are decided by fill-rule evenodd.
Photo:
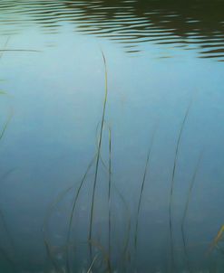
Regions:
M 91 202 L 91 216 L 90 216 L 90 227 L 89 227 L 88 241 L 92 240 L 95 189 L 96 189 L 98 170 L 99 170 L 99 161 L 100 161 L 101 146 L 102 146 L 102 131 L 103 131 L 103 124 L 104 124 L 106 104 L 107 104 L 107 95 L 108 95 L 107 64 L 106 64 L 106 59 L 105 59 L 105 56 L 104 56 L 103 52 L 102 52 L 102 59 L 103 59 L 104 72 L 105 72 L 105 93 L 104 93 L 104 101 L 103 101 L 103 108 L 102 108 L 100 138 L 99 138 L 99 144 L 98 144 L 98 148 L 97 148 L 96 165 L 95 165 L 94 180 L 93 180 L 93 194 L 92 194 L 92 202 Z M 90 245 L 90 254 L 91 254 L 91 257 L 92 257 L 92 245 Z

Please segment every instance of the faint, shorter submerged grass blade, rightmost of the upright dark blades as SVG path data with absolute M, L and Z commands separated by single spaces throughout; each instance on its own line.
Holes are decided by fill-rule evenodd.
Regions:
M 191 198 L 191 193 L 196 181 L 196 177 L 199 171 L 199 167 L 200 167 L 200 162 L 201 162 L 201 158 L 202 158 L 202 153 L 200 153 L 200 157 L 199 160 L 197 162 L 197 165 L 195 166 L 195 170 L 194 173 L 192 175 L 192 179 L 190 182 L 190 188 L 189 188 L 189 193 L 187 195 L 187 201 L 185 203 L 184 206 L 184 212 L 183 212 L 183 217 L 182 217 L 182 221 L 181 221 L 181 237 L 182 237 L 182 242 L 183 242 L 183 249 L 184 249 L 184 255 L 187 261 L 187 266 L 190 272 L 192 272 L 192 269 L 190 268 L 190 257 L 189 257 L 189 253 L 187 250 L 187 241 L 186 241 L 186 236 L 185 236 L 185 231 L 184 231 L 184 225 L 185 225 L 185 221 L 186 221 L 186 217 L 189 211 L 189 204 L 190 204 L 190 198 Z

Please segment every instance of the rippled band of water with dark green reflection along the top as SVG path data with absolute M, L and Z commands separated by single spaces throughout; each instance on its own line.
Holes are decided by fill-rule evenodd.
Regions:
M 125 52 L 141 52 L 142 43 L 153 43 L 162 49 L 196 50 L 200 58 L 224 58 L 223 1 L 3 0 L 0 8 L 2 33 L 32 23 L 57 33 L 69 22 L 75 31 L 122 43 Z

